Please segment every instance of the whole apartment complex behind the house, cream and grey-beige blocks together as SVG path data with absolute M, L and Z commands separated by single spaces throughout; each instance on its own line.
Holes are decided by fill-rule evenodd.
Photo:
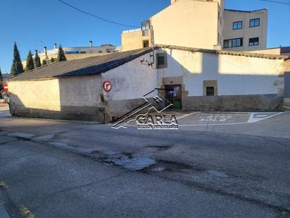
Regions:
M 170 44 L 202 49 L 265 49 L 267 9 L 234 11 L 224 0 L 172 0 L 170 6 L 122 32 L 122 51 Z

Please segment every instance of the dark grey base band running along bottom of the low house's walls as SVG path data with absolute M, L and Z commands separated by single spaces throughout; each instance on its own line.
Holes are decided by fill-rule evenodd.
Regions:
M 63 106 L 60 111 L 26 108 L 12 104 L 11 115 L 42 119 L 65 119 L 108 123 L 144 104 L 144 99 L 108 102 L 104 107 Z M 284 105 L 289 103 L 284 102 Z M 290 107 L 290 105 L 289 105 Z M 170 108 L 169 108 L 170 109 Z M 275 111 L 283 109 L 283 97 L 277 95 L 227 95 L 183 97 L 183 111 Z M 140 113 L 146 113 L 141 111 Z M 139 113 L 139 114 L 140 114 Z

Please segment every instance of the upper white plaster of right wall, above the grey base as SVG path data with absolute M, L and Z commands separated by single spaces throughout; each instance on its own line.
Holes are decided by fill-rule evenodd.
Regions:
M 203 80 L 217 80 L 218 95 L 282 95 L 283 60 L 164 51 L 168 52 L 168 68 L 159 69 L 159 77 L 182 75 L 189 96 L 203 95 Z

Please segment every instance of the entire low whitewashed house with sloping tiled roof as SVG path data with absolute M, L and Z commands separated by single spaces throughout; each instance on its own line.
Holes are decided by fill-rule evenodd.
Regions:
M 51 63 L 8 80 L 11 114 L 108 122 L 139 106 L 155 88 L 172 109 L 279 110 L 286 59 L 158 45 Z

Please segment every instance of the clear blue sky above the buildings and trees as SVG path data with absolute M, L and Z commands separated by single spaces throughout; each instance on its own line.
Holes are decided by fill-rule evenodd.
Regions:
M 141 21 L 170 4 L 170 0 L 64 0 L 108 20 L 139 26 Z M 279 0 L 290 3 L 290 0 Z M 255 10 L 269 8 L 267 47 L 290 46 L 290 5 L 259 0 L 226 0 L 226 8 Z M 29 49 L 49 49 L 53 43 L 63 47 L 121 44 L 120 33 L 130 28 L 85 16 L 56 0 L 0 1 L 0 67 L 10 72 L 13 42 L 21 59 Z

